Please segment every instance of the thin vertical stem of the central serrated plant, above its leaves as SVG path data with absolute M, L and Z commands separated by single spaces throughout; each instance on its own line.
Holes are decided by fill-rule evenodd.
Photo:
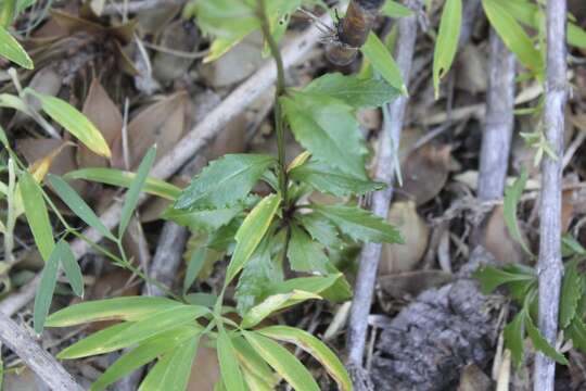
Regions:
M 277 89 L 275 90 L 275 129 L 277 133 L 277 149 L 279 159 L 279 188 L 283 198 L 283 207 L 286 210 L 289 202 L 286 197 L 288 177 L 284 150 L 284 122 L 279 98 L 285 92 L 284 65 L 281 51 L 277 41 L 270 34 L 270 22 L 267 16 L 267 7 L 265 0 L 258 0 L 258 17 L 263 27 L 263 35 L 270 48 L 270 53 L 277 64 Z

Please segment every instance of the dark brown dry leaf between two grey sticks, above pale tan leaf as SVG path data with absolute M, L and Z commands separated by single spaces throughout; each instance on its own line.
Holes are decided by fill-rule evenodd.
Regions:
M 451 167 L 451 146 L 425 144 L 403 163 L 402 197 L 424 204 L 440 193 Z

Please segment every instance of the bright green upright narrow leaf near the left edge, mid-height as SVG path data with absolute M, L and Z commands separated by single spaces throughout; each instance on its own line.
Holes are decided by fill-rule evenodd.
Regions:
M 18 186 L 33 238 L 39 253 L 47 262 L 53 252 L 55 242 L 53 240 L 53 228 L 49 220 L 49 212 L 47 212 L 47 205 L 42 198 L 42 190 L 28 172 L 21 174 Z

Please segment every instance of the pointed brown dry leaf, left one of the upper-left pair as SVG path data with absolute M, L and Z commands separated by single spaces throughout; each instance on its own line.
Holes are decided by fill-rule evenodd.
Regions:
M 116 104 L 112 101 L 100 80 L 94 78 L 84 102 L 82 113 L 100 130 L 109 147 L 120 137 L 123 116 Z M 91 152 L 87 147 L 79 146 L 77 162 L 80 167 L 105 167 L 107 160 Z

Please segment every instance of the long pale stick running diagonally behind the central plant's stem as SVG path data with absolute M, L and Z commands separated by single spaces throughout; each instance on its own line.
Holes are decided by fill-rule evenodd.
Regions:
M 329 17 L 323 17 L 322 23 L 331 25 Z M 283 63 L 285 67 L 303 60 L 316 43 L 320 40 L 320 31 L 314 26 L 309 27 L 307 31 L 302 34 L 298 38 L 293 40 L 289 46 L 283 49 Z M 190 159 L 198 154 L 202 148 L 204 148 L 214 137 L 216 137 L 225 126 L 240 115 L 249 104 L 254 102 L 264 91 L 266 91 L 277 78 L 277 67 L 275 62 L 267 62 L 262 68 L 259 68 L 254 75 L 252 75 L 245 83 L 238 87 L 232 93 L 230 93 L 220 104 L 216 106 L 207 116 L 205 116 L 195 127 L 188 133 L 175 148 L 169 151 L 157 164 L 153 167 L 151 173 L 161 179 L 167 179 L 181 166 L 186 164 Z M 144 198 L 141 202 L 144 201 Z M 111 205 L 101 216 L 102 223 L 110 229 L 116 227 L 120 220 L 122 205 L 114 203 Z M 87 228 L 84 231 L 86 238 L 91 242 L 98 242 L 102 239 L 102 236 L 93 228 Z M 74 240 L 72 242 L 72 250 L 77 258 L 81 257 L 91 249 L 91 244 L 82 240 Z M 33 292 L 39 283 L 40 276 L 35 277 L 26 287 L 25 291 Z M 16 293 L 18 294 L 18 293 Z M 25 299 L 31 299 L 33 297 L 18 297 L 18 301 L 10 302 L 10 312 L 7 308 L 5 301 L 0 302 L 0 312 L 4 314 L 13 314 L 18 311 L 18 305 L 25 305 L 28 301 Z M 29 299 L 29 300 L 30 300 Z

